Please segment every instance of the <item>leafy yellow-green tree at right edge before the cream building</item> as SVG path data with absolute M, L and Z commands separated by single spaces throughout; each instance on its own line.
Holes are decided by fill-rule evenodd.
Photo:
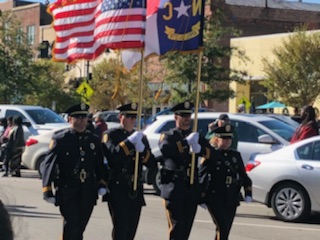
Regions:
M 263 59 L 264 85 L 268 99 L 279 99 L 289 106 L 313 104 L 320 89 L 320 33 L 305 27 L 290 34 L 275 47 L 274 60 Z

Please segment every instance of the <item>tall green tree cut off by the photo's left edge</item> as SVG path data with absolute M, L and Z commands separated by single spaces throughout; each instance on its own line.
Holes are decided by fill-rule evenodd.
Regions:
M 0 15 L 0 102 L 23 103 L 31 91 L 33 51 L 11 11 Z

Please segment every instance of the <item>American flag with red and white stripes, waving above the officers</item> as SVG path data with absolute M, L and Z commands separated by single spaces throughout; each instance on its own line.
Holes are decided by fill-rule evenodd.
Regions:
M 53 58 L 92 60 L 106 48 L 141 49 L 145 0 L 58 0 L 49 6 L 56 41 Z

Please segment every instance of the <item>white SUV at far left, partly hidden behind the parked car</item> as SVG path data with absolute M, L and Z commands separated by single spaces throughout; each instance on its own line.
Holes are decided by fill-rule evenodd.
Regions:
M 40 106 L 31 105 L 0 105 L 0 118 L 21 116 L 25 140 L 30 135 L 69 126 L 69 124 L 54 111 Z

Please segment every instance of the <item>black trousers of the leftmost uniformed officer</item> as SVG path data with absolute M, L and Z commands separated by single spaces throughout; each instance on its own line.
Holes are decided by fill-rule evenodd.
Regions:
M 63 240 L 82 240 L 83 232 L 89 222 L 94 203 L 82 201 L 70 201 L 60 206 L 63 216 Z

